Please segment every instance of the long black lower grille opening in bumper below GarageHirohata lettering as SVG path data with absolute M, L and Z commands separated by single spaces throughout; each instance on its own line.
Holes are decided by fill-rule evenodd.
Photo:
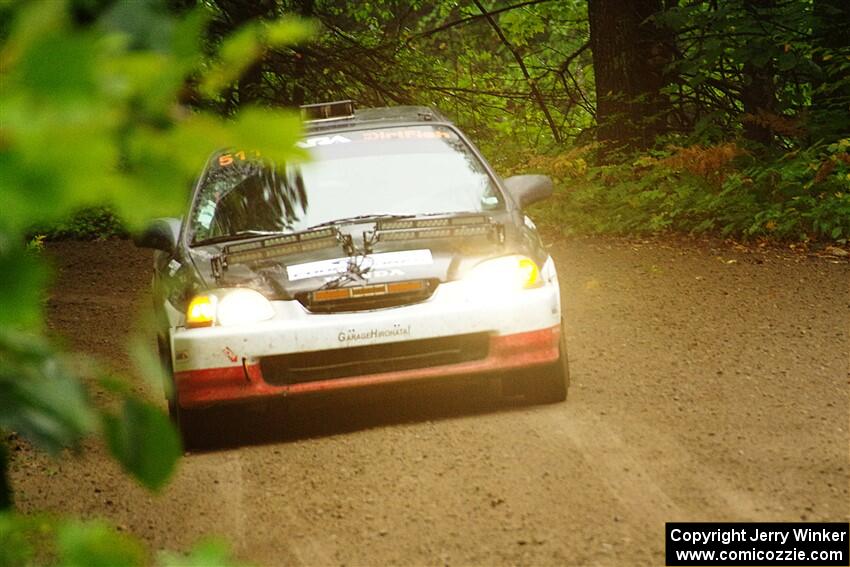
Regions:
M 487 333 L 475 333 L 269 356 L 260 368 L 269 384 L 299 384 L 480 360 L 489 344 Z

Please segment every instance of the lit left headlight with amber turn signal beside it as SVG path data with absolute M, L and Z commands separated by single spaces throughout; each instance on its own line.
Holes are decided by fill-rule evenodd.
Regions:
M 239 325 L 274 317 L 271 302 L 253 289 L 220 289 L 196 295 L 186 309 L 187 327 Z

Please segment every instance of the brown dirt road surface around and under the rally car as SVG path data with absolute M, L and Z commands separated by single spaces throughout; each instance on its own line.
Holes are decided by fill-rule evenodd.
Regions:
M 129 371 L 149 253 L 49 252 L 50 327 Z M 94 442 L 59 462 L 21 444 L 17 504 L 154 548 L 222 535 L 266 565 L 659 565 L 665 521 L 848 520 L 850 264 L 663 240 L 552 253 L 566 403 L 459 382 L 223 412 L 159 495 Z

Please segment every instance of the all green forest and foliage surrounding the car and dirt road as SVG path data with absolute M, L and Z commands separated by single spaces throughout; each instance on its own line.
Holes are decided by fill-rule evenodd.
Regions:
M 99 435 L 153 490 L 181 454 L 137 384 L 47 335 L 44 239 L 179 214 L 219 147 L 285 160 L 301 104 L 434 106 L 501 174 L 553 176 L 532 214 L 562 234 L 850 238 L 846 0 L 6 1 L 0 42 L 0 564 L 152 560 L 105 524 L 15 514 L 11 443 Z

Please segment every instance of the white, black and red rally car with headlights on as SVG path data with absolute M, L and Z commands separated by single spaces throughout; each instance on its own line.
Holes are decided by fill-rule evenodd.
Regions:
M 304 112 L 309 160 L 217 152 L 186 216 L 137 239 L 172 415 L 473 374 L 564 400 L 558 276 L 523 213 L 551 180 L 500 179 L 430 108 Z

